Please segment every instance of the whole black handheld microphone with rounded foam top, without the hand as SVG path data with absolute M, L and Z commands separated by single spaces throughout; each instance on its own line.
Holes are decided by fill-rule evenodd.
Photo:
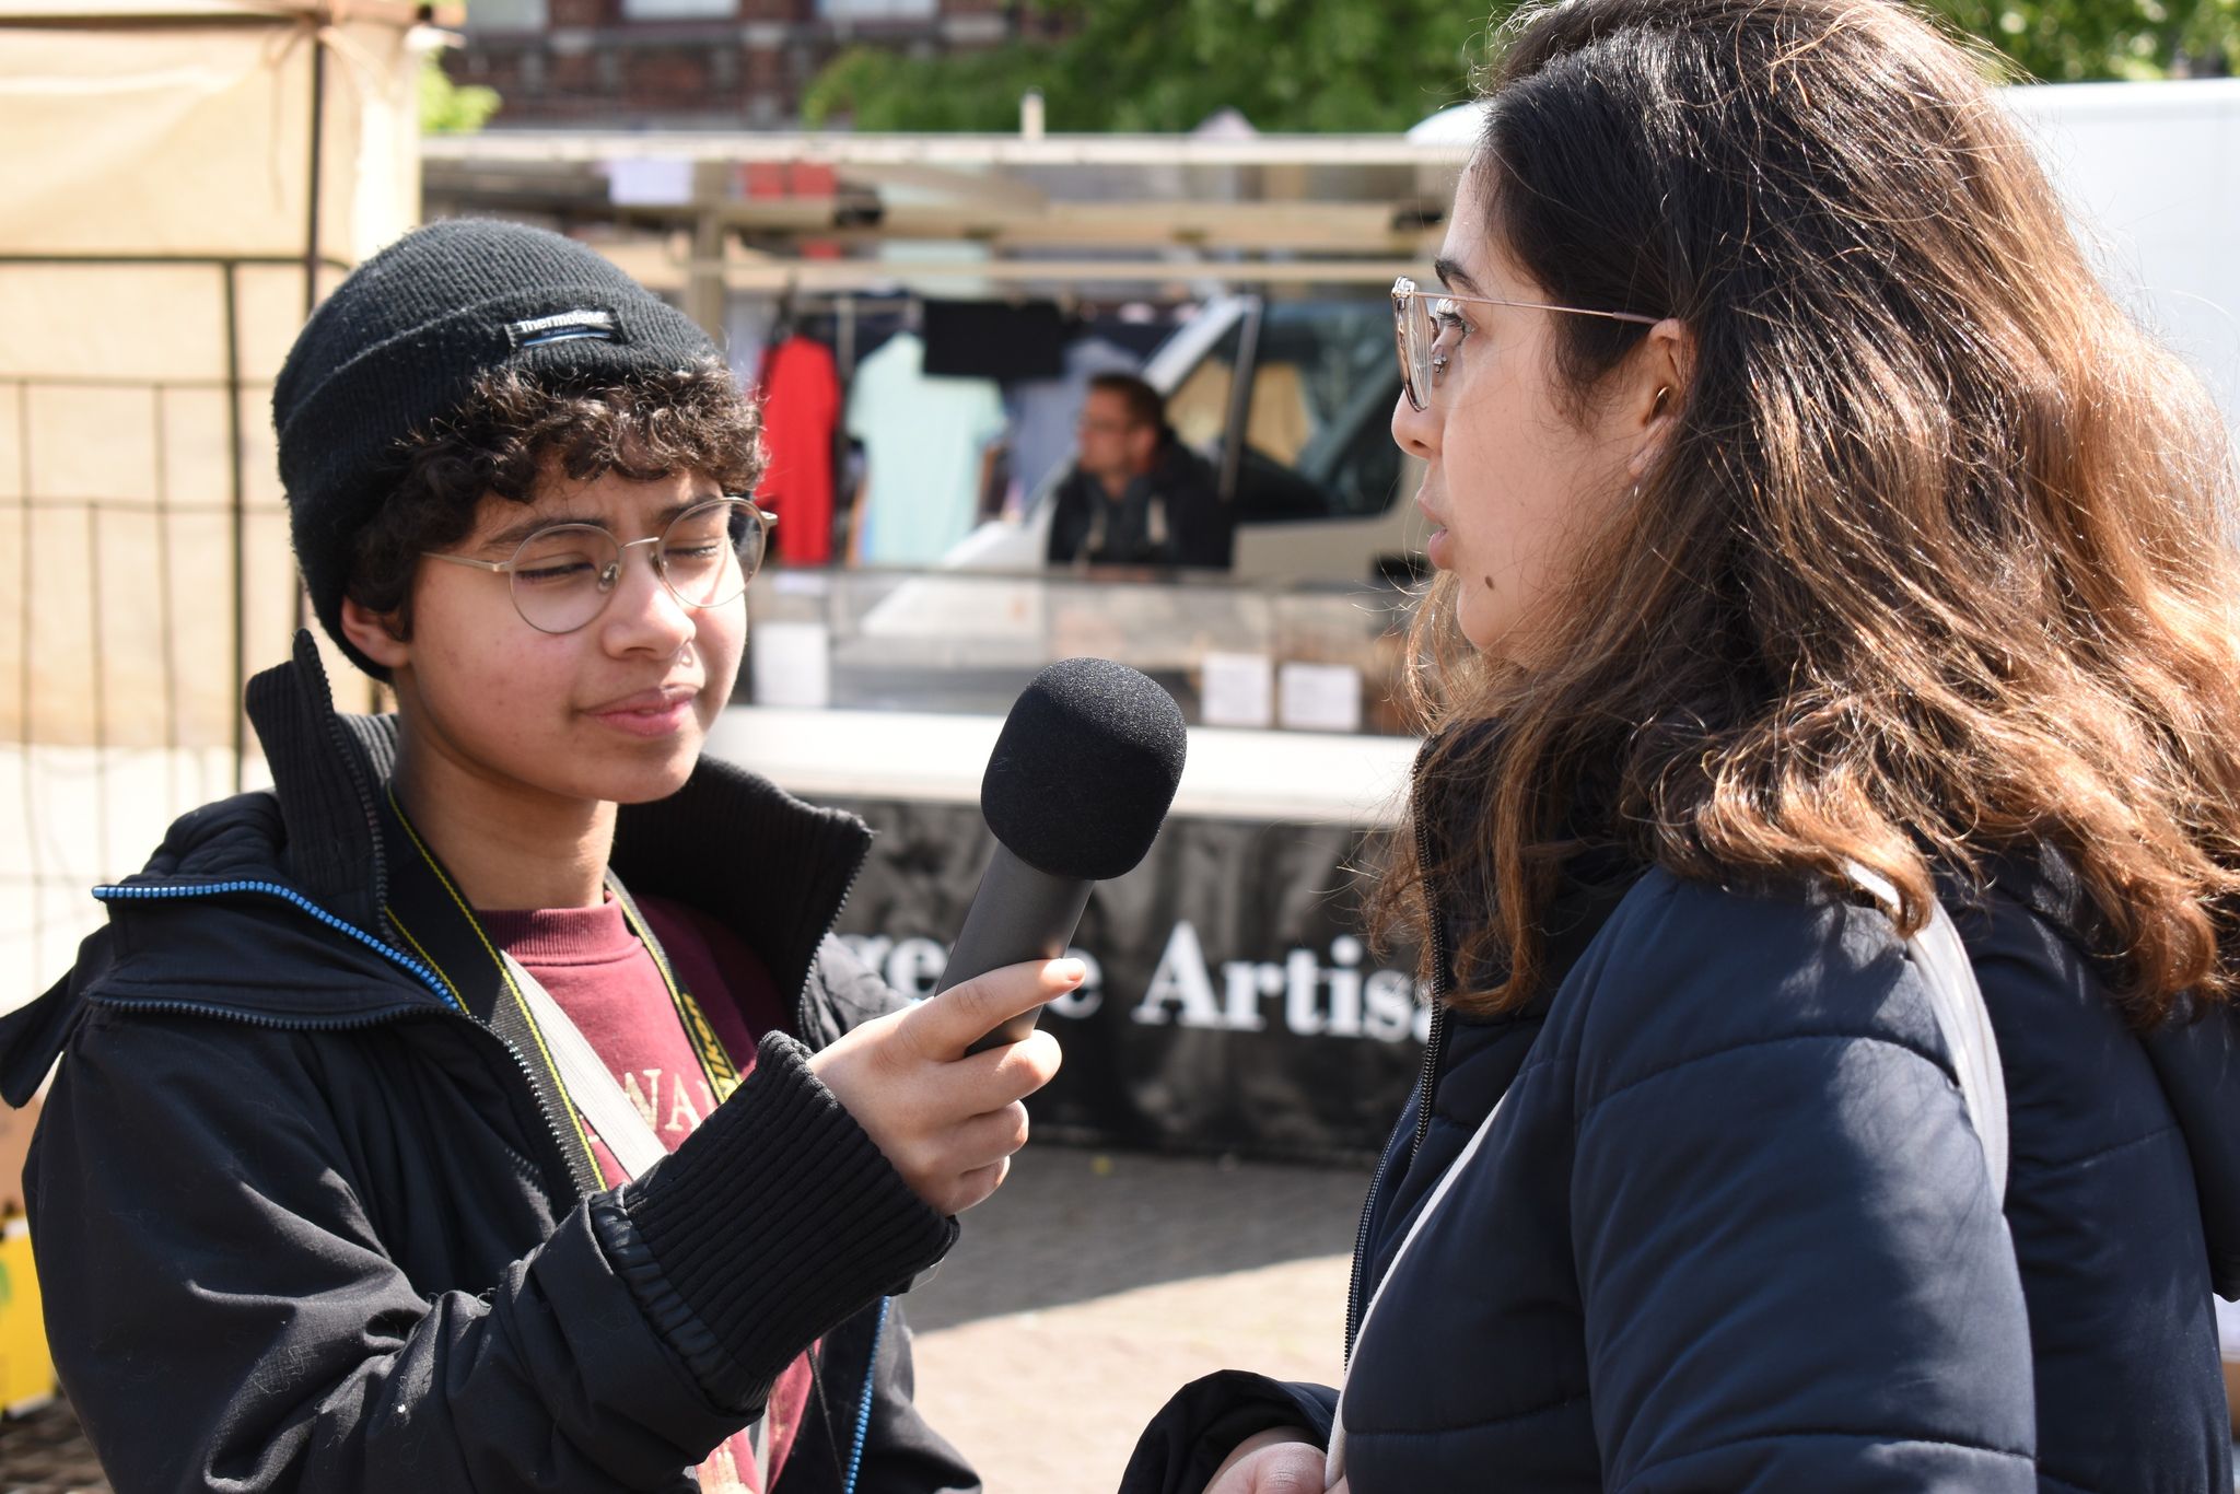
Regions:
M 1004 719 L 981 815 L 995 856 L 934 992 L 1028 959 L 1057 959 L 1089 889 L 1136 867 L 1183 782 L 1183 710 L 1109 659 L 1062 659 Z M 1019 1042 L 1035 1012 L 988 1033 L 972 1053 Z

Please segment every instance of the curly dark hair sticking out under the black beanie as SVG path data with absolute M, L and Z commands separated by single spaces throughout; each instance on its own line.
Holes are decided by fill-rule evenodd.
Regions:
M 412 632 L 419 558 L 473 533 L 486 495 L 529 504 L 551 473 L 573 482 L 703 473 L 744 495 L 764 464 L 762 410 L 719 358 L 594 385 L 491 370 L 448 419 L 405 446 L 396 491 L 358 531 L 347 587 L 354 603 L 390 618 L 399 638 Z

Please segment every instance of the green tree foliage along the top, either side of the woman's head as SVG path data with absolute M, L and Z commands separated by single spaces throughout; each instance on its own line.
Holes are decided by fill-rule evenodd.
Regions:
M 2240 63 L 2240 0 L 1929 0 L 2045 81 L 2159 78 Z M 1467 96 L 1512 0 L 1024 0 L 988 52 L 853 47 L 811 83 L 809 123 L 1012 130 L 1039 87 L 1051 130 L 1189 130 L 1221 108 L 1261 130 L 1404 130 Z

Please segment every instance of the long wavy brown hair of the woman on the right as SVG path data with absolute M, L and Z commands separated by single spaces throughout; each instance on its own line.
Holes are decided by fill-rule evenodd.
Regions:
M 1436 876 L 1505 1010 L 1581 853 L 1716 883 L 1982 880 L 2065 856 L 2139 1024 L 2233 997 L 2231 464 L 2101 289 L 1978 60 L 1877 0 L 1570 0 L 1490 72 L 1487 231 L 1548 300 L 1680 318 L 1676 435 L 1534 625 L 1476 656 L 1443 576 L 1407 697 Z M 1577 410 L 1644 329 L 1561 318 Z M 1490 730 L 1449 730 L 1467 723 Z M 1422 914 L 1402 835 L 1375 900 Z

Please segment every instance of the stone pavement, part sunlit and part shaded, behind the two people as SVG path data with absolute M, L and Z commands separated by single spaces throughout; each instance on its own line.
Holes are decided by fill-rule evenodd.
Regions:
M 918 1404 L 990 1494 L 1109 1494 L 1169 1391 L 1333 1380 L 1360 1167 L 1028 1147 L 909 1297 Z M 69 1407 L 0 1422 L 0 1494 L 108 1494 Z

